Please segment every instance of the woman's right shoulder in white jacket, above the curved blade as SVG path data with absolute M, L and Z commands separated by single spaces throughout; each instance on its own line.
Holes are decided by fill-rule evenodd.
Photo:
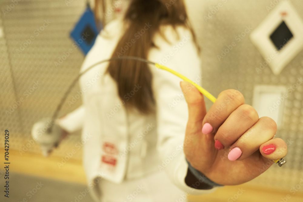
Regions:
M 149 60 L 186 75 L 189 79 L 195 79 L 196 75 L 200 75 L 200 55 L 189 28 L 163 25 L 155 35 L 153 42 L 155 47 L 151 48 L 149 52 Z M 175 77 L 165 71 L 155 71 L 155 69 L 152 71 L 159 78 L 163 78 L 163 81 L 165 81 L 165 77 Z

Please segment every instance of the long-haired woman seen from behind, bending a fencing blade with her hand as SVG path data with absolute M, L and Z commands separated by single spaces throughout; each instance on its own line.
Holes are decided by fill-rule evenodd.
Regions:
M 184 2 L 127 2 L 123 18 L 106 24 L 98 35 L 81 71 L 104 59 L 136 56 L 168 66 L 200 84 L 199 48 Z M 95 7 L 96 13 L 104 14 L 97 19 L 105 23 L 108 17 L 105 1 L 97 0 Z M 122 12 L 121 8 L 118 11 Z M 226 160 L 223 148 L 229 151 L 228 146 L 258 123 L 256 112 L 244 105 L 239 92 L 224 91 L 216 101 L 223 108 L 220 113 L 216 113 L 215 103 L 211 113 L 206 114 L 203 96 L 190 84 L 182 83 L 184 98 L 180 81 L 175 75 L 129 59 L 103 63 L 82 76 L 83 106 L 58 124 L 73 132 L 83 121 L 83 163 L 90 193 L 96 201 L 182 201 L 188 194 L 210 193 L 215 185 L 240 184 L 259 175 L 258 167 L 262 167 L 266 158 L 262 157 L 261 149 L 257 154 L 255 148 L 271 140 L 275 127 L 253 148 L 247 146 L 248 152 L 240 145 L 237 148 L 241 154 L 238 150 L 231 152 Z M 225 98 L 230 98 L 227 108 L 221 105 L 228 101 Z M 233 126 L 237 120 L 232 118 L 237 114 L 232 112 L 242 108 L 248 108 L 249 119 L 246 124 Z M 213 114 L 217 118 L 211 118 Z M 218 128 L 226 127 L 225 120 L 240 131 L 234 133 L 235 137 L 220 135 Z M 71 122 L 78 124 L 68 126 Z M 274 125 L 268 119 L 260 122 Z M 285 143 L 279 140 L 275 144 L 283 147 Z M 251 152 L 254 149 L 256 154 Z M 281 155 L 286 155 L 285 151 Z M 244 160 L 237 163 L 236 159 Z M 250 165 L 251 159 L 255 161 L 249 169 L 254 171 L 245 170 L 243 167 Z M 233 172 L 223 171 L 225 165 Z M 234 165 L 251 175 L 240 175 Z M 189 168 L 193 171 L 193 167 L 212 181 L 195 178 L 197 175 L 188 171 Z

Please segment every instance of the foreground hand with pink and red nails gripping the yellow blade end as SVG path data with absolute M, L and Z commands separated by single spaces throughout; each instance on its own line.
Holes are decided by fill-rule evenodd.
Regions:
M 198 89 L 185 81 L 180 85 L 189 113 L 185 140 L 190 141 L 184 144 L 184 153 L 192 167 L 210 180 L 222 185 L 245 183 L 266 171 L 272 160 L 287 154 L 286 143 L 273 139 L 275 121 L 259 118 L 253 107 L 244 104 L 239 91 L 222 91 L 206 112 Z M 262 148 L 269 144 L 276 149 L 265 154 Z

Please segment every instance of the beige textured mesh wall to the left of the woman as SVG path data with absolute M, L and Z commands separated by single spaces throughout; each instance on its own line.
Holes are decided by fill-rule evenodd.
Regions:
M 4 119 L 1 130 L 10 130 L 12 149 L 41 152 L 36 144 L 29 144 L 30 131 L 36 121 L 52 116 L 79 72 L 84 56 L 73 45 L 69 32 L 85 10 L 85 5 L 86 2 L 80 0 L 67 5 L 65 1 L 53 0 L 24 0 L 16 5 L 9 0 L 0 2 L 5 33 L 5 37 L 0 39 L 1 77 L 6 79 L 1 79 L 5 83 L 1 86 L 1 92 L 4 91 L 1 96 L 4 109 L 1 110 Z M 72 53 L 68 55 L 70 49 Z M 63 59 L 62 64 L 59 63 L 60 58 Z M 67 100 L 71 100 L 78 90 L 76 86 Z M 22 102 L 15 111 L 6 115 L 5 111 L 14 107 L 15 101 Z M 81 104 L 81 99 L 71 106 L 65 103 L 61 115 Z M 54 155 L 65 156 L 79 140 L 79 134 L 69 136 Z M 74 157 L 81 158 L 81 152 Z

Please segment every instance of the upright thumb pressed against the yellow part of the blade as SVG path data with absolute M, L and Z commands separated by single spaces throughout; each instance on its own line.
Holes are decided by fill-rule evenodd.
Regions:
M 181 81 L 180 86 L 188 105 L 188 124 L 201 126 L 206 114 L 203 94 L 187 81 Z

